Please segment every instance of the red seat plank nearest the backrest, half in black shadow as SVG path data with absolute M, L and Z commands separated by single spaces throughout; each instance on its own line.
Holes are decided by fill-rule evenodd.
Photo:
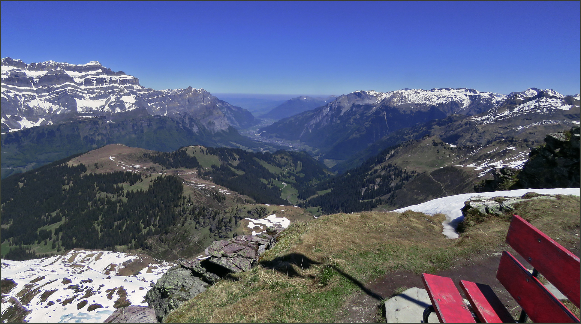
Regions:
M 504 307 L 489 285 L 460 280 L 460 287 L 472 305 L 472 311 L 481 323 L 514 323 L 510 312 Z

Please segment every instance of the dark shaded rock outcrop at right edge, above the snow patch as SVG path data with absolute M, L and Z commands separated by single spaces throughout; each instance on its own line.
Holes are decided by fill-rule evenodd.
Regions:
M 548 134 L 544 141 L 544 146 L 531 150 L 510 189 L 579 187 L 579 126 Z

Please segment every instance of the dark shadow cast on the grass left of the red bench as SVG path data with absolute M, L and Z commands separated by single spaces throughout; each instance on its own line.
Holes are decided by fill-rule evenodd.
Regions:
M 321 262 L 311 260 L 309 257 L 307 257 L 304 254 L 290 253 L 287 255 L 283 255 L 282 257 L 274 258 L 274 260 L 271 260 L 271 261 L 260 261 L 259 264 L 261 266 L 263 266 L 264 268 L 273 269 L 273 270 L 278 271 L 284 275 L 289 276 L 290 278 L 296 278 L 296 277 L 304 278 L 303 275 L 301 275 L 299 272 L 297 272 L 295 270 L 294 267 L 292 267 L 293 265 L 295 265 L 297 268 L 303 269 L 303 271 L 304 271 L 306 269 L 309 269 L 313 265 L 321 264 Z M 333 271 L 335 271 L 339 275 L 343 276 L 343 278 L 346 278 L 347 280 L 352 282 L 354 285 L 359 287 L 359 289 L 361 289 L 368 296 L 375 298 L 376 300 L 383 301 L 383 297 L 381 297 L 379 294 L 376 294 L 373 291 L 367 289 L 367 287 L 365 287 L 363 285 L 363 283 L 361 283 L 359 280 L 353 278 L 353 276 L 349 275 L 348 273 L 343 272 L 338 267 L 335 267 L 335 265 L 329 265 L 327 268 L 333 269 Z M 325 271 L 323 270 L 322 272 L 324 273 Z

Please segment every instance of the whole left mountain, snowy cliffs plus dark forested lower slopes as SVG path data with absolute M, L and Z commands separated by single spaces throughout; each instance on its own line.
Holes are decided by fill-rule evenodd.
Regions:
M 165 152 L 282 148 L 238 134 L 254 123 L 248 110 L 204 89 L 156 91 L 99 62 L 2 59 L 2 178 L 113 143 Z

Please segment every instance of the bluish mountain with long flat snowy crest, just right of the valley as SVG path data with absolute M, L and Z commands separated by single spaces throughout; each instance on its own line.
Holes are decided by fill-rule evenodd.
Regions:
M 345 153 L 361 150 L 389 132 L 450 114 L 482 113 L 504 98 L 467 88 L 355 91 L 259 131 L 264 137 L 302 141 L 331 159 L 345 159 Z

